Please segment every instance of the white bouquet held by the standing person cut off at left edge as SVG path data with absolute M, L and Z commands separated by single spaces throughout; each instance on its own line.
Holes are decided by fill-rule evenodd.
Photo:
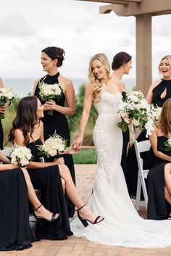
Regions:
M 12 88 L 0 88 L 0 107 L 4 106 L 7 102 L 11 102 L 14 99 Z M 4 119 L 4 113 L 0 112 L 0 119 Z

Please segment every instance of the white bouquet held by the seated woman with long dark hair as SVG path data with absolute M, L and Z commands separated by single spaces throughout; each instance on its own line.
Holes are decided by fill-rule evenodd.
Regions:
M 65 141 L 57 133 L 54 133 L 49 139 L 46 139 L 43 145 L 38 146 L 38 150 L 40 151 L 38 152 L 38 155 L 47 158 L 54 157 L 60 152 L 64 152 L 66 147 L 67 141 Z

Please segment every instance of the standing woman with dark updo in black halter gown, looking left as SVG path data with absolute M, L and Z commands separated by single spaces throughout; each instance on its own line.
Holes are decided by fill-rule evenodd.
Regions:
M 41 65 L 43 71 L 47 74 L 43 78 L 36 79 L 33 87 L 33 95 L 39 96 L 39 83 L 54 84 L 59 83 L 63 92 L 62 98 L 59 101 L 50 100 L 49 102 L 41 101 L 44 107 L 44 117 L 42 118 L 44 126 L 44 139 L 48 139 L 55 131 L 67 140 L 67 146 L 70 146 L 70 129 L 65 115 L 74 115 L 75 113 L 75 91 L 72 82 L 59 74 L 59 67 L 62 66 L 64 60 L 64 50 L 58 47 L 47 47 L 41 51 Z M 41 100 L 41 99 L 40 99 Z M 66 105 L 65 105 L 66 102 Z M 47 110 L 53 110 L 54 115 L 47 115 Z M 70 170 L 72 180 L 75 183 L 75 170 L 72 155 L 64 154 L 64 163 Z M 69 217 L 72 217 L 75 212 L 75 207 L 66 197 L 67 210 Z

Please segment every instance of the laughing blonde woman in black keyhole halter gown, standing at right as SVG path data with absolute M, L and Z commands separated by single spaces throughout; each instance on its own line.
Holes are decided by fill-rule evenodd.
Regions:
M 153 103 L 159 107 L 162 107 L 167 99 L 171 98 L 171 55 L 162 57 L 158 66 L 159 73 L 162 75 L 160 80 L 155 81 L 151 84 L 149 92 L 146 96 L 146 100 L 149 104 Z M 143 131 L 139 134 L 137 141 L 145 141 L 146 132 Z M 151 154 L 143 154 L 143 159 L 150 159 L 151 166 L 154 165 L 154 158 L 151 158 Z M 147 160 L 146 160 L 147 162 Z M 144 165 L 144 168 L 149 169 Z M 130 146 L 128 155 L 128 191 L 131 197 L 136 196 L 138 180 L 138 164 L 135 156 L 134 145 Z

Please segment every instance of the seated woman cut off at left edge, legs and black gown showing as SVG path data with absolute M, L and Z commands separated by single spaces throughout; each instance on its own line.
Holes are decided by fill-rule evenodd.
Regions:
M 24 168 L 9 164 L 0 152 L 0 251 L 28 249 L 33 240 L 29 226 L 28 199 L 35 209 L 37 218 L 56 220 L 36 197 L 30 176 Z

